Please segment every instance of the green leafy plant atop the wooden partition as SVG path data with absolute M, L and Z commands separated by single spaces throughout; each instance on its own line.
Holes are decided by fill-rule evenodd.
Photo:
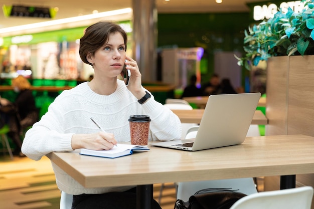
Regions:
M 273 18 L 245 31 L 245 56 L 238 65 L 250 70 L 259 61 L 273 56 L 314 55 L 314 0 L 302 0 L 304 9 L 294 13 L 280 10 Z

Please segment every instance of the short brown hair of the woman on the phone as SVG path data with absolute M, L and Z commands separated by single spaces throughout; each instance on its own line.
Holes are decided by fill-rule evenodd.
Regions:
M 86 58 L 87 54 L 91 53 L 95 55 L 95 52 L 108 42 L 109 35 L 115 32 L 122 35 L 126 51 L 127 35 L 119 25 L 113 22 L 100 21 L 89 26 L 85 30 L 84 36 L 80 39 L 79 54 L 82 61 L 93 66 L 88 62 Z

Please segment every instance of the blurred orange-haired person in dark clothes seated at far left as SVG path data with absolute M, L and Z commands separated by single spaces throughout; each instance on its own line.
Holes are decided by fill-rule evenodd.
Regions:
M 10 132 L 8 136 L 16 145 L 14 154 L 25 156 L 21 152 L 22 140 L 21 136 L 25 128 L 32 126 L 38 121 L 38 109 L 35 106 L 35 98 L 33 96 L 31 84 L 23 77 L 18 76 L 12 80 L 14 91 L 18 93 L 15 102 L 1 98 L 1 105 L 11 106 L 12 110 L 6 113 L 9 123 Z

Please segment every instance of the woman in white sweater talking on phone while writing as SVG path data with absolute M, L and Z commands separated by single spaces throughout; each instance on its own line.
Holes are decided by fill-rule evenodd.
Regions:
M 94 78 L 55 99 L 26 133 L 24 154 L 39 160 L 54 151 L 111 149 L 117 142 L 130 141 L 128 117 L 135 114 L 150 116 L 149 140 L 180 139 L 179 118 L 142 87 L 136 62 L 126 56 L 126 43 L 125 31 L 114 23 L 98 22 L 85 30 L 79 53 L 82 61 L 94 68 Z M 131 71 L 128 86 L 118 79 L 125 60 Z M 91 117 L 106 133 L 99 132 Z M 55 164 L 53 168 L 59 188 L 74 194 L 73 209 L 136 208 L 134 186 L 84 188 Z M 156 201 L 153 208 L 160 208 Z

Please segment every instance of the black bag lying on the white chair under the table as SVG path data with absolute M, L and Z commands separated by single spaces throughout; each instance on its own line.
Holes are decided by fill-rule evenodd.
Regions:
M 178 199 L 175 209 L 229 209 L 238 199 L 246 196 L 231 188 L 208 188 L 197 191 L 188 202 Z

